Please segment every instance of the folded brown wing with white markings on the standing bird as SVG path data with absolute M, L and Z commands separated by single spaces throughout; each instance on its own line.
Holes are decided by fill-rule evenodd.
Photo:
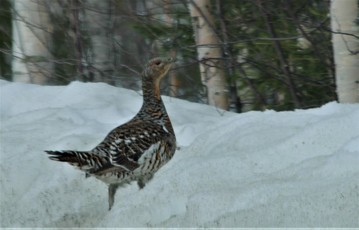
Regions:
M 112 130 L 94 152 L 104 154 L 106 151 L 113 166 L 133 171 L 145 156 L 156 153 L 170 135 L 161 125 L 152 122 L 129 122 Z

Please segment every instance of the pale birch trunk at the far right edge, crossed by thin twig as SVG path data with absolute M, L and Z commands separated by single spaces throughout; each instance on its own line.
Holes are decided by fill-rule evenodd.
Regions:
M 358 0 L 332 0 L 331 26 L 337 94 L 340 103 L 359 102 L 359 39 L 342 32 L 359 36 L 355 19 Z

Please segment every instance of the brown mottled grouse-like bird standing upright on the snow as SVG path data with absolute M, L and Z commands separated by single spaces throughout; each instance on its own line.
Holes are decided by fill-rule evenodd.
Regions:
M 114 128 L 90 151 L 49 151 L 51 160 L 67 162 L 108 185 L 111 210 L 118 187 L 137 181 L 144 188 L 176 151 L 176 135 L 160 94 L 160 81 L 174 58 L 157 57 L 142 72 L 143 103 L 128 122 Z

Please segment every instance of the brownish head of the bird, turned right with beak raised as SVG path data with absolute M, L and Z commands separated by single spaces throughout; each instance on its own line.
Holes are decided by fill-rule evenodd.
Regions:
M 157 57 L 151 59 L 143 71 L 143 77 L 146 80 L 152 80 L 159 83 L 159 81 L 167 74 L 172 64 L 175 62 L 174 58 Z

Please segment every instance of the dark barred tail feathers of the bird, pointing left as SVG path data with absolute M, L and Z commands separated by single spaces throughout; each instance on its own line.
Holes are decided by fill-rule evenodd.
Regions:
M 98 155 L 84 151 L 45 151 L 54 161 L 67 162 L 79 169 L 90 172 L 100 168 L 104 162 Z

